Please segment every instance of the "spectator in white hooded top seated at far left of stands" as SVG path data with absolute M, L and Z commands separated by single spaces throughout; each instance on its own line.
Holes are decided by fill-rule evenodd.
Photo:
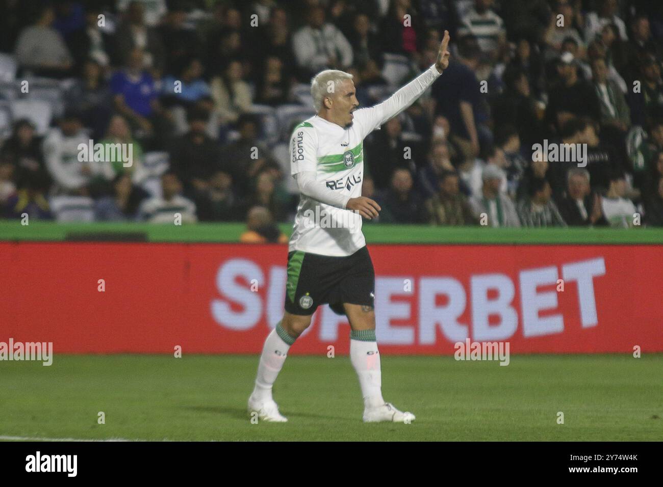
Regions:
M 54 180 L 54 195 L 90 194 L 90 186 L 113 179 L 115 174 L 110 164 L 85 160 L 80 157 L 79 146 L 88 152 L 90 137 L 83 130 L 80 117 L 68 112 L 60 120 L 59 126 L 46 136 L 43 151 L 46 168 Z

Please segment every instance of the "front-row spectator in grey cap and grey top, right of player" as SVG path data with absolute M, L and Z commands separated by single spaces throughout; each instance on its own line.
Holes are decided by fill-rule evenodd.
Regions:
M 480 225 L 491 227 L 520 227 L 520 219 L 511 199 L 500 191 L 504 171 L 495 164 L 486 164 L 481 173 L 481 195 L 469 200 Z

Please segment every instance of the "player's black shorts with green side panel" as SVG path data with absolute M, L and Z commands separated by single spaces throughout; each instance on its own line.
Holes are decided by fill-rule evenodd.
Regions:
M 300 250 L 288 253 L 288 313 L 312 315 L 318 306 L 329 303 L 335 313 L 343 315 L 343 303 L 373 307 L 374 299 L 375 270 L 366 246 L 345 257 Z

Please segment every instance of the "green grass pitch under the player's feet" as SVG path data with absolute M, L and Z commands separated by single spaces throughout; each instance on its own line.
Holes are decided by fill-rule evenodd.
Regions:
M 663 354 L 527 355 L 499 362 L 382 357 L 383 393 L 412 424 L 361 422 L 349 358 L 290 356 L 274 398 L 245 411 L 257 356 L 56 355 L 0 362 L 0 437 L 218 441 L 661 441 Z M 97 424 L 97 413 L 105 424 Z M 558 424 L 558 411 L 564 424 Z

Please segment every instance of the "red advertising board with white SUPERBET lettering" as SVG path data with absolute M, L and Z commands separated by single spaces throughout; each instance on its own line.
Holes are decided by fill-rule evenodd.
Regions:
M 370 245 L 381 350 L 663 351 L 663 247 Z M 286 246 L 0 243 L 0 341 L 72 353 L 258 353 L 280 319 Z M 103 281 L 102 281 L 103 280 Z M 101 290 L 103 286 L 103 290 Z M 563 289 L 563 290 L 562 290 Z M 349 349 L 328 306 L 294 354 Z

